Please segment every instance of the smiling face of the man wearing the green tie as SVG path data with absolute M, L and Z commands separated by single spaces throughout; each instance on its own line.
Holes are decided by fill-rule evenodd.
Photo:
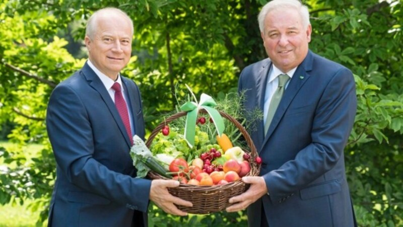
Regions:
M 305 59 L 311 41 L 311 26 L 303 27 L 297 10 L 277 9 L 266 15 L 261 38 L 268 57 L 285 73 Z

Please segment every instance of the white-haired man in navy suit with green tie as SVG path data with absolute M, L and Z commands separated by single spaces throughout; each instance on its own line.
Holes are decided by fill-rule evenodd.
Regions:
M 247 66 L 238 88 L 247 110 L 263 111 L 250 133 L 262 164 L 227 211 L 247 208 L 249 226 L 354 226 L 343 153 L 357 108 L 353 74 L 308 49 L 309 12 L 298 0 L 267 3 L 258 22 L 269 58 Z

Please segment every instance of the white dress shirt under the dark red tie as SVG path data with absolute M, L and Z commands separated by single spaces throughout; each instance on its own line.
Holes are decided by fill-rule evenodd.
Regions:
M 124 86 L 122 85 L 122 79 L 120 78 L 120 73 L 117 75 L 117 80 L 113 81 L 111 78 L 109 78 L 107 75 L 103 74 L 101 71 L 99 71 L 97 69 L 97 67 L 95 67 L 94 64 L 92 64 L 92 62 L 90 61 L 90 59 L 87 60 L 88 65 L 90 66 L 90 68 L 92 70 L 94 70 L 95 74 L 97 74 L 97 76 L 99 77 L 99 79 L 102 81 L 102 83 L 104 84 L 106 90 L 108 91 L 110 97 L 112 98 L 112 101 L 115 102 L 115 90 L 113 90 L 112 86 L 115 82 L 118 82 L 120 84 L 120 89 L 122 90 L 122 94 L 123 94 L 123 99 L 126 102 L 126 107 L 128 106 L 128 98 L 126 97 L 126 94 L 124 93 Z M 129 121 L 130 121 L 130 129 L 131 129 L 131 135 L 135 135 L 135 128 L 133 125 L 133 115 L 130 111 L 130 108 L 127 108 L 127 112 L 129 113 Z

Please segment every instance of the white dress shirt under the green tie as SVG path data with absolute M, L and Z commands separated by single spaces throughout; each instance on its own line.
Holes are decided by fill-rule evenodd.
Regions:
M 286 74 L 290 77 L 293 77 L 297 67 L 291 69 L 290 71 L 286 72 Z M 272 64 L 272 68 L 268 72 L 268 78 L 266 83 L 266 92 L 264 93 L 264 105 L 263 105 L 263 125 L 266 124 L 266 118 L 268 113 L 268 106 L 270 105 L 270 101 L 272 100 L 273 94 L 276 91 L 277 87 L 279 86 L 279 75 L 284 74 L 279 68 L 277 68 L 274 64 Z M 288 83 L 284 89 L 287 88 Z

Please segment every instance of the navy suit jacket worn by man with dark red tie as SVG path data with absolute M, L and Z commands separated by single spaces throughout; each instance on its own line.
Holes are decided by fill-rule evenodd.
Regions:
M 139 88 L 121 78 L 135 132 L 144 138 Z M 123 122 L 87 63 L 53 90 L 46 126 L 57 163 L 49 225 L 147 225 L 151 181 L 135 179 Z

